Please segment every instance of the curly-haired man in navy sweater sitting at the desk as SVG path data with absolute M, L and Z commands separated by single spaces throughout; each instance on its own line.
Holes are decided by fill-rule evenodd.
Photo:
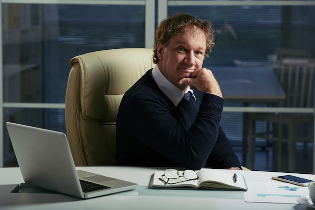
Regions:
M 202 68 L 213 39 L 208 21 L 187 14 L 160 24 L 153 55 L 156 66 L 120 104 L 118 165 L 241 168 L 219 124 L 224 103 L 220 87 L 212 72 Z

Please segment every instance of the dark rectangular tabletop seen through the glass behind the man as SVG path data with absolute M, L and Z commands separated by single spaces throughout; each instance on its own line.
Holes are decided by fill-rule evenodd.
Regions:
M 212 67 L 223 97 L 232 100 L 270 101 L 285 99 L 271 67 Z

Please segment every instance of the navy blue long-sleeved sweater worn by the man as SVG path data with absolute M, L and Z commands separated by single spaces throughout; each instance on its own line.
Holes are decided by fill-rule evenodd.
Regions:
M 148 70 L 123 96 L 116 125 L 116 161 L 123 166 L 241 168 L 219 124 L 224 99 L 194 89 L 177 107 Z

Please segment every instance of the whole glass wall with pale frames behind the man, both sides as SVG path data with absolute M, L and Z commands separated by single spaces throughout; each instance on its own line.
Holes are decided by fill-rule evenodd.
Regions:
M 214 72 L 221 85 L 226 99 L 221 125 L 235 148 L 244 146 L 245 152 L 240 156 L 243 165 L 248 164 L 249 115 L 313 115 L 313 93 L 306 110 L 282 109 L 286 93 L 278 82 L 275 51 L 315 51 L 314 1 L 1 2 L 3 166 L 16 165 L 5 122 L 66 132 L 64 98 L 72 57 L 114 48 L 152 48 L 158 22 L 178 12 L 209 20 L 215 28 L 215 46 L 204 66 Z M 265 88 L 257 89 L 251 83 L 253 78 L 258 78 L 255 85 Z M 273 95 L 268 96 L 267 87 Z M 275 124 L 259 122 L 256 130 L 274 127 Z M 313 120 L 307 127 L 313 136 Z M 301 134 L 302 128 L 297 132 Z M 258 139 L 258 146 L 267 144 Z

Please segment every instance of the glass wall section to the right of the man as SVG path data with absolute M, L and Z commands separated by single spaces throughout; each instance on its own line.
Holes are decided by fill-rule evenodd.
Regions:
M 303 116 L 299 119 L 303 125 L 301 123 L 297 126 L 297 137 L 294 139 L 308 141 L 310 142 L 308 147 L 312 147 L 313 109 L 307 108 L 314 106 L 314 78 L 310 74 L 311 81 L 308 87 L 312 91 L 302 90 L 302 85 L 305 83 L 301 81 L 302 74 L 296 77 L 300 81 L 296 84 L 292 81 L 291 89 L 287 90 L 280 82 L 280 77 L 288 77 L 288 75 L 287 73 L 280 75 L 280 68 L 283 66 L 282 49 L 287 50 L 288 53 L 291 50 L 308 51 L 307 56 L 300 57 L 313 58 L 315 7 L 290 6 L 281 2 L 279 5 L 273 5 L 266 1 L 259 5 L 255 5 L 254 2 L 230 5 L 226 2 L 214 4 L 211 1 L 199 2 L 199 4 L 188 1 L 181 1 L 181 3 L 182 5 L 169 1 L 168 16 L 180 12 L 189 13 L 200 19 L 209 20 L 215 28 L 215 46 L 209 58 L 205 60 L 204 66 L 214 72 L 221 86 L 223 97 L 226 99 L 224 109 L 226 113 L 222 116 L 221 125 L 232 145 L 243 147 L 243 153 L 240 155 L 242 163 L 255 169 L 247 153 L 250 150 L 248 148 L 249 141 L 252 139 L 250 137 L 254 136 L 249 131 L 249 124 L 255 123 L 255 136 L 257 136 L 255 144 L 259 149 L 264 150 L 266 147 L 271 147 L 273 141 L 266 141 L 262 137 L 290 141 L 288 131 L 291 127 L 280 125 L 280 122 L 286 123 L 283 119 L 297 120 L 296 116 Z M 295 75 L 292 74 L 290 77 Z M 288 104 L 289 100 L 293 100 L 290 94 L 296 97 L 294 100 L 309 100 L 309 102 L 307 105 L 305 101 L 297 102 L 300 104 L 292 102 Z M 290 108 L 292 109 L 287 110 Z M 306 109 L 309 114 L 303 113 Z M 285 110 L 287 113 L 282 114 Z M 260 112 L 265 113 L 264 118 L 260 116 L 257 118 L 256 113 Z M 290 116 L 294 118 L 289 118 Z M 265 121 L 271 119 L 276 119 L 277 122 Z M 278 128 L 281 128 L 281 136 L 278 135 Z M 274 167 L 271 170 L 296 171 L 295 167 L 287 164 L 289 156 L 293 156 L 293 153 L 289 153 L 289 146 L 294 143 L 281 147 L 285 157 L 281 159 L 277 158 L 276 153 L 280 151 L 280 146 L 277 144 L 278 141 L 274 144 Z M 301 143 L 297 145 L 302 146 Z M 311 159 L 312 153 L 309 151 L 307 153 L 307 158 Z

